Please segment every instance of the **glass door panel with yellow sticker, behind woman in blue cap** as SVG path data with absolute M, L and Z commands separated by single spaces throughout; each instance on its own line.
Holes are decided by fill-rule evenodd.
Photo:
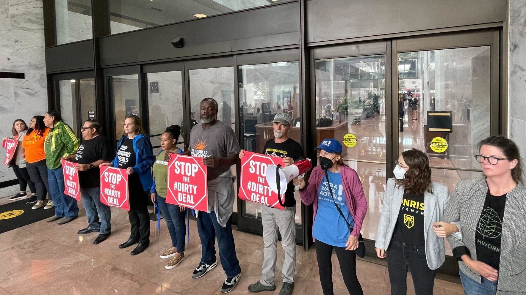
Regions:
M 386 181 L 385 55 L 315 60 L 315 83 L 316 145 L 342 143 L 368 198 L 362 235 L 374 240 Z

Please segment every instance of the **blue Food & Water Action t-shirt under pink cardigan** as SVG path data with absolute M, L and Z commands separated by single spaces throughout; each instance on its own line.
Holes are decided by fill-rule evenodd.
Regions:
M 329 181 L 332 188 L 332 196 L 336 204 L 341 209 L 343 215 L 351 227 L 355 226 L 355 220 L 352 218 L 349 208 L 345 203 L 345 195 L 343 194 L 343 185 L 341 184 L 341 174 L 339 172 L 333 173 L 328 171 Z M 347 223 L 341 217 L 338 209 L 332 201 L 329 185 L 325 176 L 318 188 L 318 209 L 314 225 L 312 228 L 312 235 L 315 239 L 322 241 L 325 244 L 344 247 L 349 239 L 349 228 Z

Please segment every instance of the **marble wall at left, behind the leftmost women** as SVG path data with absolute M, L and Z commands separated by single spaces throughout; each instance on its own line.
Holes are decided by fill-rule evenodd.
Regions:
M 0 71 L 25 73 L 25 79 L 0 79 L 0 134 L 7 136 L 15 119 L 28 123 L 47 111 L 42 0 L 0 0 Z M 0 182 L 15 178 L 0 165 Z

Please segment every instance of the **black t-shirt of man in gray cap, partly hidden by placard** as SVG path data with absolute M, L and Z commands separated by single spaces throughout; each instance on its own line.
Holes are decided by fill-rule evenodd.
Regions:
M 291 157 L 294 161 L 303 156 L 301 145 L 295 140 L 289 138 L 284 142 L 276 143 L 274 139 L 270 139 L 265 143 L 263 154 L 267 156 L 280 157 L 285 159 Z M 287 191 L 285 192 L 285 207 L 296 206 L 296 199 L 294 198 L 294 184 L 289 182 Z

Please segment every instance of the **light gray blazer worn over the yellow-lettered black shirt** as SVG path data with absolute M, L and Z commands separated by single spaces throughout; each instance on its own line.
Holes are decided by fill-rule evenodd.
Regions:
M 437 269 L 446 260 L 444 238 L 439 238 L 433 231 L 433 223 L 442 220 L 450 194 L 446 186 L 431 183 L 432 193 L 424 193 L 424 238 L 426 240 L 426 258 L 430 269 Z M 375 247 L 389 250 L 389 243 L 395 231 L 395 225 L 402 204 L 404 188 L 395 185 L 395 178 L 387 180 L 386 195 L 383 198 L 380 222 L 376 234 Z

